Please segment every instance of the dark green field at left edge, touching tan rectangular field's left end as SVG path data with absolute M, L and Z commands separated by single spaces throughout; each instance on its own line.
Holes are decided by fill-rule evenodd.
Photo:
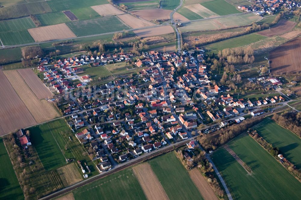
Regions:
M 0 33 L 0 38 L 2 43 L 7 46 L 35 42 L 27 30 L 3 32 Z

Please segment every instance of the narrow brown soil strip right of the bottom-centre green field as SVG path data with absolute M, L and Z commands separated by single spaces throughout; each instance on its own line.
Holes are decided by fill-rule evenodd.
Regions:
M 219 200 L 209 183 L 206 181 L 206 178 L 202 176 L 197 168 L 193 168 L 188 171 L 188 173 L 205 200 Z

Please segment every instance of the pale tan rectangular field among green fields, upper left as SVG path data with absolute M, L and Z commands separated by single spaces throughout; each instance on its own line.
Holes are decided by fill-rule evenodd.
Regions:
M 28 32 L 36 42 L 76 37 L 65 23 L 28 29 Z

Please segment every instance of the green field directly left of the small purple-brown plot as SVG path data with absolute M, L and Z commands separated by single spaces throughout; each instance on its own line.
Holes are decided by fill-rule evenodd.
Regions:
M 42 26 L 61 24 L 70 22 L 69 18 L 63 12 L 46 13 L 36 15 Z

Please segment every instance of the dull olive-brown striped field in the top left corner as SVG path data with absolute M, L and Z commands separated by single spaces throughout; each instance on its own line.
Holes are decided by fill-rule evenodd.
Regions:
M 49 7 L 47 2 L 40 1 L 35 3 L 18 4 L 0 8 L 0 20 L 24 17 L 29 16 L 30 14 L 36 15 L 49 12 L 51 12 L 51 8 Z

